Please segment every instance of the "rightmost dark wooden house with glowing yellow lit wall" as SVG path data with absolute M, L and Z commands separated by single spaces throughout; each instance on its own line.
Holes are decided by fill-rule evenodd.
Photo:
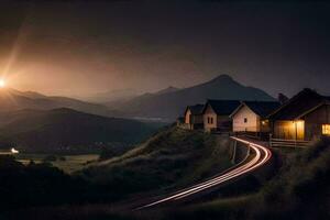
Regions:
M 273 138 L 311 141 L 330 135 L 330 98 L 304 89 L 270 114 Z

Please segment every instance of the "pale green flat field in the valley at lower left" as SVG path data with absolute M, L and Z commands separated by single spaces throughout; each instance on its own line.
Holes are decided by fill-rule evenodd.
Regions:
M 20 153 L 15 155 L 16 161 L 29 164 L 33 161 L 36 164 L 43 163 L 44 158 L 47 157 L 48 154 L 25 154 Z M 59 157 L 64 157 L 62 161 Z M 90 162 L 97 161 L 99 158 L 98 154 L 81 154 L 81 155 L 58 155 L 57 160 L 54 162 L 50 162 L 53 166 L 64 170 L 65 173 L 72 174 L 77 172 Z

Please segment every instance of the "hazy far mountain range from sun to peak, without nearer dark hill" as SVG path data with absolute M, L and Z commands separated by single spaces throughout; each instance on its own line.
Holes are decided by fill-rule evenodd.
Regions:
M 0 111 L 70 108 L 105 117 L 174 121 L 183 114 L 186 106 L 204 103 L 207 99 L 274 100 L 265 91 L 244 86 L 228 75 L 220 75 L 210 81 L 188 88 L 168 87 L 156 92 L 135 96 L 132 91 L 121 90 L 116 91 L 113 96 L 109 94 L 109 99 L 107 96 L 107 94 L 101 95 L 106 102 L 94 103 L 67 97 L 45 96 L 34 91 L 1 89 Z

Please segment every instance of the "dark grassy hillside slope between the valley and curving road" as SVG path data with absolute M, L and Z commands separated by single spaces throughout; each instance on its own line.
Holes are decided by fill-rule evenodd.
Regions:
M 232 166 L 228 144 L 228 138 L 170 128 L 120 157 L 94 164 L 82 175 L 116 186 L 121 197 L 183 187 Z

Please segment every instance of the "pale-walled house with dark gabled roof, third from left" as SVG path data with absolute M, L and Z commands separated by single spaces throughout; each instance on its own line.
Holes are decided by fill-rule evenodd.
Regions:
M 271 132 L 267 116 L 280 106 L 277 101 L 242 101 L 230 114 L 233 132 L 262 135 Z

